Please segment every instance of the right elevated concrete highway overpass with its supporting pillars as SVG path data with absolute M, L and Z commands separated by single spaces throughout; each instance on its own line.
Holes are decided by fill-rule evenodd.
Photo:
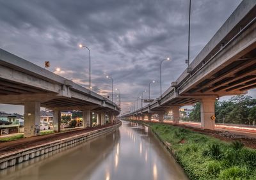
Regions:
M 244 0 L 220 27 L 190 68 L 172 82 L 159 98 L 123 117 L 148 120 L 157 113 L 163 121 L 166 110 L 179 123 L 179 108 L 200 101 L 201 126 L 214 130 L 216 98 L 245 94 L 256 87 L 256 1 Z

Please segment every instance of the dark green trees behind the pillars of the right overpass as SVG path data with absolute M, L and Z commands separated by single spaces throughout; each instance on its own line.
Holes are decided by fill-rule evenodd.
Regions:
M 256 123 L 256 99 L 252 96 L 233 96 L 227 101 L 215 103 L 216 123 L 255 124 Z M 189 117 L 184 121 L 200 122 L 200 103 L 196 103 Z

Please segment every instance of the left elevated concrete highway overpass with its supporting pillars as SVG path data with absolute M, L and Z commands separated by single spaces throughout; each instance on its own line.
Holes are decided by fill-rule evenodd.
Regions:
M 24 105 L 24 137 L 40 132 L 40 107 L 53 110 L 54 131 L 60 131 L 61 110 L 83 111 L 83 127 L 120 114 L 120 107 L 93 91 L 0 49 L 0 103 Z

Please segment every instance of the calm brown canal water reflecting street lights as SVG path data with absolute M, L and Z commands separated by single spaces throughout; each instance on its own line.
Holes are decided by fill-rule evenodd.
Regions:
M 57 152 L 1 170 L 0 179 L 188 179 L 141 124 L 123 121 L 113 133 Z

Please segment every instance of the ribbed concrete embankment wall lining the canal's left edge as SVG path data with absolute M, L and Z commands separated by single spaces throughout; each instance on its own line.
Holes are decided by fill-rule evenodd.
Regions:
M 2 154 L 0 155 L 0 170 L 16 165 L 17 163 L 22 163 L 23 161 L 31 160 L 43 154 L 54 152 L 63 147 L 74 147 L 87 140 L 94 139 L 95 137 L 99 137 L 100 135 L 104 135 L 111 131 L 115 131 L 119 126 L 121 126 L 121 124 L 122 123 L 119 122 L 117 124 L 113 124 L 112 126 L 81 133 L 72 137 L 53 140 L 52 142 L 47 142 L 45 144 L 19 149 L 17 151 L 14 150 L 10 153 Z

